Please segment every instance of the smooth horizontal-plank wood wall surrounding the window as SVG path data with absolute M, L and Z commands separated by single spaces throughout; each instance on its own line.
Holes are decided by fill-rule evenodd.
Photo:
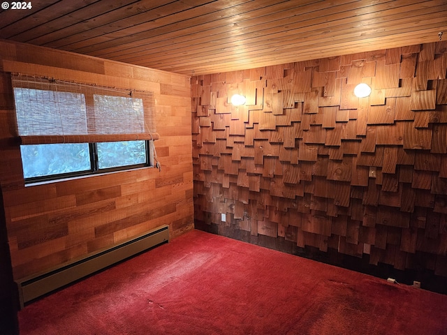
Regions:
M 189 77 L 0 41 L 0 183 L 15 279 L 156 226 L 193 228 Z M 161 172 L 143 168 L 24 187 L 9 73 L 154 92 Z

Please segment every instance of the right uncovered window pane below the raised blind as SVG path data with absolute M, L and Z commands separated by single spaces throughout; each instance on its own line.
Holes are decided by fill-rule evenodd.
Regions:
M 146 141 L 103 142 L 97 144 L 98 168 L 145 164 Z

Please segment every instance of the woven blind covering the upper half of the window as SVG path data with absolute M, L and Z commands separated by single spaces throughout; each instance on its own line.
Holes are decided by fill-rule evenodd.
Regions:
M 13 75 L 22 144 L 156 140 L 152 92 Z

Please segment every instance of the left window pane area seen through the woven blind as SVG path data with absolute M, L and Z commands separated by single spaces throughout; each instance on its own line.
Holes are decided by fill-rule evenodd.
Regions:
M 14 97 L 19 135 L 87 134 L 84 94 L 15 87 Z

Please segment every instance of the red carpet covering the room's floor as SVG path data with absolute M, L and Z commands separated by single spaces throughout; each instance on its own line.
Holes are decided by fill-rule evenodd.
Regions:
M 29 304 L 20 334 L 447 334 L 447 296 L 193 230 Z

